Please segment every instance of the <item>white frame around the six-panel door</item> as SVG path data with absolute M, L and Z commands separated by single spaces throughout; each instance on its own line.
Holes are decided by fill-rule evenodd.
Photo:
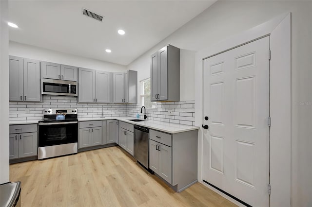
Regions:
M 270 35 L 270 206 L 291 206 L 292 14 L 275 17 L 195 53 L 195 125 L 198 132 L 198 180 L 235 204 L 234 199 L 203 182 L 203 59 Z M 282 74 L 282 78 L 281 78 Z M 283 147 L 281 147 L 281 144 Z

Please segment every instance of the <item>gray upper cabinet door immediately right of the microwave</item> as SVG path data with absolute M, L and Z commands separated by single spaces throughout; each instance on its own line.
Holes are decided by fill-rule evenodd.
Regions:
M 95 102 L 95 70 L 78 69 L 78 102 Z

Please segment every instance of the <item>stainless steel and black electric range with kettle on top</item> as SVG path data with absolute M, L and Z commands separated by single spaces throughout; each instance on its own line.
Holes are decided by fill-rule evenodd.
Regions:
M 65 119 L 57 120 L 59 113 Z M 38 159 L 78 153 L 77 109 L 44 109 L 38 125 Z

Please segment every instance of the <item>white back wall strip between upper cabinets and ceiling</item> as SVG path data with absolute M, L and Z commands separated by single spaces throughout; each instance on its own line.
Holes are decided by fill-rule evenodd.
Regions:
M 63 65 L 76 66 L 80 68 L 98 69 L 109 72 L 119 72 L 126 70 L 125 66 L 118 65 L 115 63 L 109 63 L 96 59 L 80 57 L 73 54 L 52 51 L 13 41 L 9 42 L 9 54 L 41 61 L 60 63 Z

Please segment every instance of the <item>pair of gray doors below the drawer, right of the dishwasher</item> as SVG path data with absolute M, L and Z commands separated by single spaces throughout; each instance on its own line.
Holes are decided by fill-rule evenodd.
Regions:
M 172 148 L 150 139 L 150 169 L 172 183 Z

